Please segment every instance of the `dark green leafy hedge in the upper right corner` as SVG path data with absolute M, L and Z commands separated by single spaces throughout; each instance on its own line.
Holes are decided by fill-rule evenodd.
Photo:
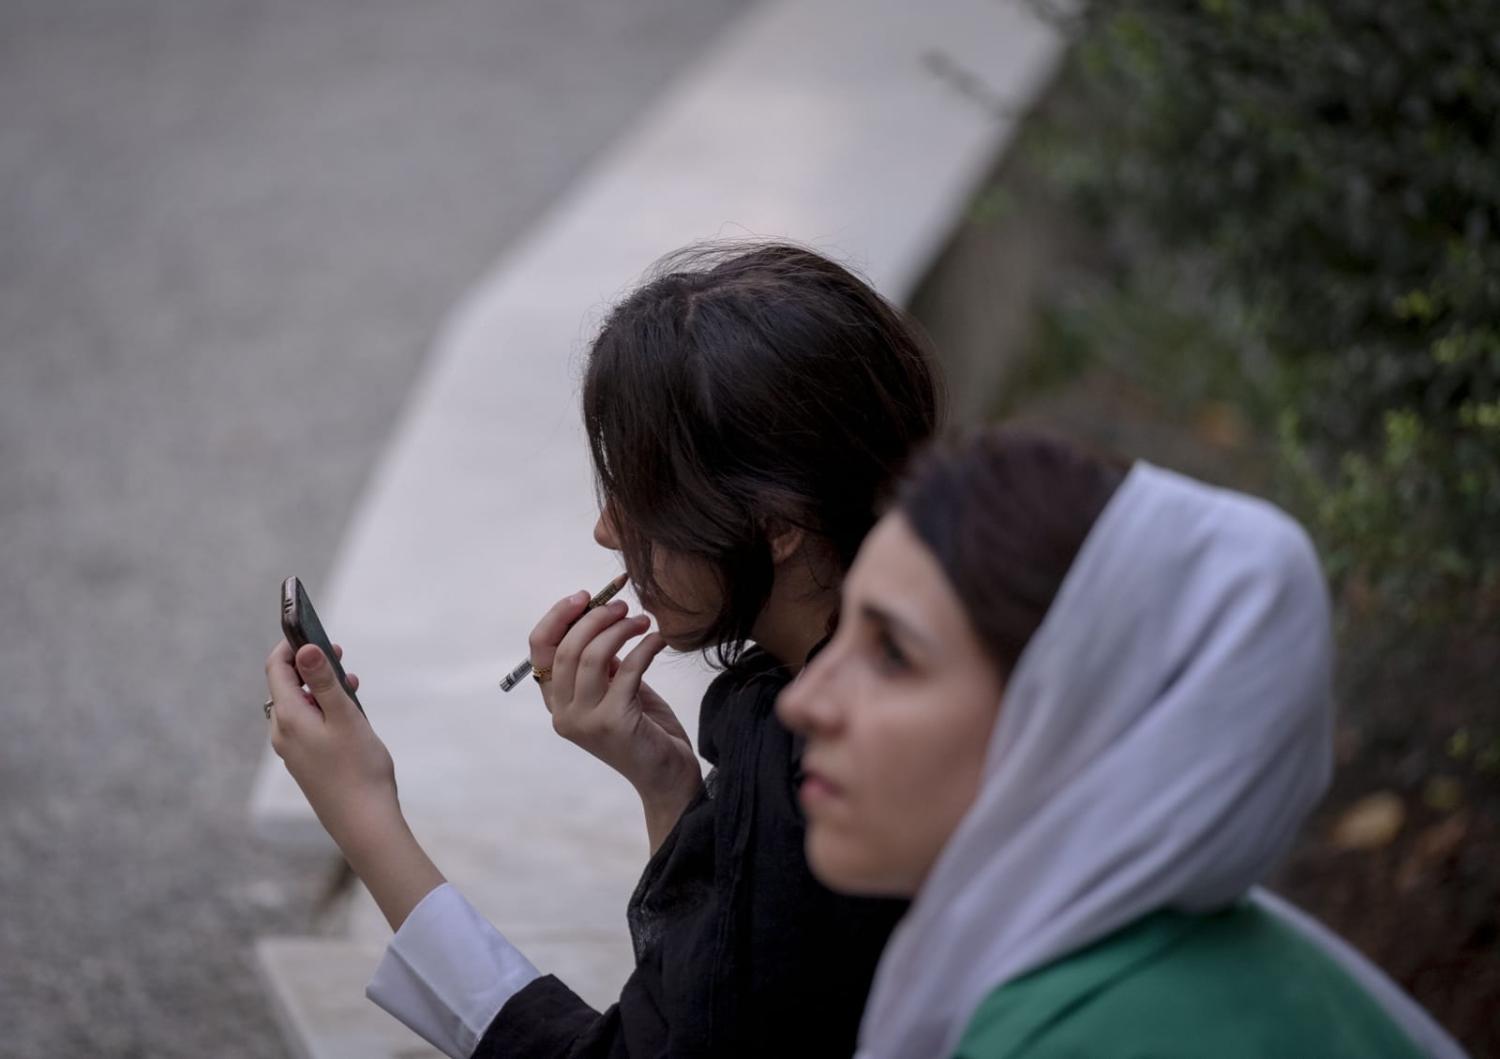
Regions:
M 1500 609 L 1500 3 L 1096 0 L 1078 32 L 1054 171 L 1128 266 L 1092 320 L 1210 336 L 1335 574 Z

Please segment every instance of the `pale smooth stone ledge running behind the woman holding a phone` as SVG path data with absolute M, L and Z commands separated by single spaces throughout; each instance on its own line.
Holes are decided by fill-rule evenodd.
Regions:
M 616 570 L 590 537 L 576 414 L 591 322 L 660 254 L 718 236 L 825 248 L 904 298 L 1058 46 L 1023 0 L 747 12 L 459 306 L 315 586 L 418 837 L 544 972 L 597 1004 L 630 968 L 639 808 L 552 734 L 532 687 L 495 687 L 554 598 Z M 704 670 L 660 668 L 652 684 L 693 729 Z M 274 759 L 255 816 L 288 843 L 326 843 Z M 387 934 L 362 896 L 340 940 L 262 944 L 308 1054 L 420 1054 L 360 996 Z

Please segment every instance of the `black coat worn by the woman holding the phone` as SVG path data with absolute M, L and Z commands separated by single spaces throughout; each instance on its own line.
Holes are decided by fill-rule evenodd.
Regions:
M 702 794 L 630 898 L 636 969 L 603 1014 L 554 976 L 513 996 L 476 1059 L 848 1056 L 904 902 L 813 879 L 800 742 L 776 718 L 788 674 L 759 650 L 704 696 Z

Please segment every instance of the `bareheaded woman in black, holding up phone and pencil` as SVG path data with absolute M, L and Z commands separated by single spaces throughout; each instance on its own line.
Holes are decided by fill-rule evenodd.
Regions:
M 459 1058 L 852 1053 L 904 903 L 810 874 L 801 748 L 774 704 L 828 638 L 878 496 L 938 418 L 915 330 L 794 246 L 678 255 L 594 340 L 594 536 L 624 555 L 657 632 L 621 658 L 650 620 L 624 603 L 585 614 L 579 592 L 537 624 L 531 662 L 556 730 L 645 808 L 652 854 L 627 914 L 636 970 L 604 1012 L 444 882 L 400 819 L 388 753 L 316 648 L 276 648 L 273 746 L 396 930 L 368 990 L 376 1004 Z M 706 783 L 642 682 L 663 646 L 723 669 L 699 711 Z

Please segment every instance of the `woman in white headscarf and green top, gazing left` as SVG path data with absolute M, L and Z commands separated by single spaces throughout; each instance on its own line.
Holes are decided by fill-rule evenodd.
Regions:
M 1462 1056 L 1256 890 L 1329 782 L 1330 658 L 1269 504 L 1017 430 L 920 462 L 778 704 L 813 872 L 915 897 L 860 1056 Z

